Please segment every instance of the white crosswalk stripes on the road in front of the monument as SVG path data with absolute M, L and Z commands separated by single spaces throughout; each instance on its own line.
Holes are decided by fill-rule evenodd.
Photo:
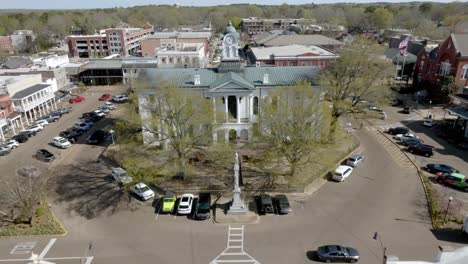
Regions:
M 260 264 L 244 251 L 244 226 L 232 227 L 229 225 L 226 249 L 221 252 L 210 264 L 220 263 L 252 263 Z

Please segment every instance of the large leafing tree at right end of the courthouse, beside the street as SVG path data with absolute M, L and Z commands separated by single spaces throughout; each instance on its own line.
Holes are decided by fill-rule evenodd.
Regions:
M 387 98 L 389 89 L 385 80 L 391 74 L 391 65 L 380 57 L 382 52 L 373 42 L 357 38 L 343 48 L 334 67 L 322 73 L 320 83 L 332 103 L 330 141 L 334 141 L 338 119 L 360 101 L 377 102 Z

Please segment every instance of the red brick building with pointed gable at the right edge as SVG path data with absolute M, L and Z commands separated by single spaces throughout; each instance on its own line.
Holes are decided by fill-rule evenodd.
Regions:
M 451 34 L 432 50 L 417 56 L 414 85 L 436 86 L 443 76 L 453 76 L 459 87 L 468 87 L 468 34 Z

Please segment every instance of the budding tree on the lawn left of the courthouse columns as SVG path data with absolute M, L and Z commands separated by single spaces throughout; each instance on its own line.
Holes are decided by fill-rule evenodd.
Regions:
M 174 153 L 177 176 L 183 178 L 189 155 L 195 148 L 209 144 L 212 137 L 212 102 L 196 91 L 169 83 L 153 90 L 140 86 L 137 93 L 143 133 L 152 135 L 150 144 L 160 143 Z

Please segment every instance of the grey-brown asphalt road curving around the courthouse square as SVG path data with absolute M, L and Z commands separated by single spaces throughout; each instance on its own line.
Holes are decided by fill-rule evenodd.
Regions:
M 76 111 L 61 120 L 64 124 L 56 124 L 60 126 L 57 132 L 52 126 L 44 131 L 43 142 L 31 148 L 47 144 L 52 134 L 81 115 L 78 112 L 98 105 L 93 99 L 87 102 L 89 105 L 76 105 Z M 461 245 L 438 241 L 431 232 L 415 171 L 399 166 L 370 131 L 355 133 L 367 157 L 362 166 L 345 182 L 328 182 L 310 197 L 290 196 L 290 215 L 261 216 L 259 224 L 245 225 L 245 253 L 260 263 L 311 263 L 318 246 L 344 244 L 359 250 L 359 263 L 381 263 L 383 252 L 380 242 L 372 238 L 374 232 L 380 234 L 387 254 L 407 260 L 434 260 L 438 245 Z M 78 144 L 54 161 L 50 173 L 56 184 L 51 204 L 68 234 L 58 239 L 46 257 L 94 256 L 93 263 L 100 264 L 210 263 L 226 249 L 227 225 L 158 215 L 151 203 L 122 193 L 108 180 L 109 166 L 96 162 L 103 150 L 103 146 Z M 32 150 L 20 147 L 19 154 L 14 154 L 21 157 L 22 151 Z M 31 250 L 43 252 L 50 239 L 1 239 L 0 256 L 27 257 L 26 253 L 11 254 L 21 242 L 37 242 Z

